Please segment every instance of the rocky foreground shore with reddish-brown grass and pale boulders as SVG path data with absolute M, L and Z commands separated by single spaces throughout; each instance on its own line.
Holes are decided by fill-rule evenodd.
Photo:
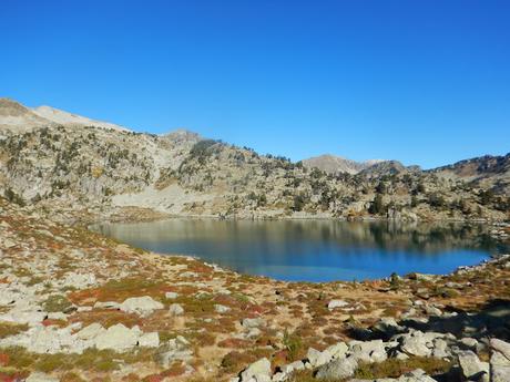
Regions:
M 510 256 L 283 282 L 0 200 L 2 381 L 509 381 Z

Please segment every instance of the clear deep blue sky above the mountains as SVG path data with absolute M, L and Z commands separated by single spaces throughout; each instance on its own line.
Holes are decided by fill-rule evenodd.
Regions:
M 294 161 L 510 151 L 510 1 L 0 1 L 0 96 Z

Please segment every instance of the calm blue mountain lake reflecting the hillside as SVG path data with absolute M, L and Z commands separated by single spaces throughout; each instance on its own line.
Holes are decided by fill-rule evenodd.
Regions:
M 239 272 L 329 281 L 391 272 L 445 273 L 508 251 L 477 225 L 170 219 L 91 227 L 161 254 L 194 255 Z

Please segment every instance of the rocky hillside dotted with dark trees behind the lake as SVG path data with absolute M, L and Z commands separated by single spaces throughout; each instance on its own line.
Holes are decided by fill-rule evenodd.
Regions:
M 26 128 L 42 123 L 37 120 L 41 116 L 6 104 L 10 106 L 3 107 L 0 125 L 9 128 L 0 141 L 0 192 L 38 210 L 58 210 L 62 219 L 198 215 L 501 220 L 510 210 L 508 188 L 501 187 L 509 174 L 504 165 L 487 165 L 475 179 L 395 161 L 356 175 L 328 174 L 186 131 L 152 135 L 79 126 L 75 120 Z M 17 113 L 16 124 L 6 110 Z

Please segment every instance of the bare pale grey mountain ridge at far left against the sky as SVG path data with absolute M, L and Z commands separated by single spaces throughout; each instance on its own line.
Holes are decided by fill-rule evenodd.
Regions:
M 0 131 L 30 131 L 45 126 L 95 126 L 108 130 L 129 131 L 113 123 L 95 121 L 50 106 L 30 109 L 10 99 L 0 99 Z

